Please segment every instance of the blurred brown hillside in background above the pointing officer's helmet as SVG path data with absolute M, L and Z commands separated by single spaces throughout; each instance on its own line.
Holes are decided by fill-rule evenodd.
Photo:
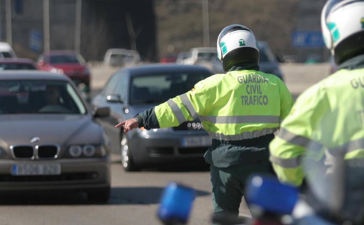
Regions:
M 210 45 L 229 24 L 249 27 L 258 40 L 269 42 L 276 54 L 293 54 L 298 0 L 209 0 Z M 155 1 L 161 55 L 172 44 L 177 51 L 203 46 L 202 4 L 195 0 Z

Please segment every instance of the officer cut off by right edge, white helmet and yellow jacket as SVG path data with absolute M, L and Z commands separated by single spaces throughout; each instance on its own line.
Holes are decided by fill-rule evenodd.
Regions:
M 364 0 L 327 1 L 321 27 L 339 70 L 297 98 L 270 143 L 278 178 L 296 186 L 304 178 L 301 159 L 308 147 L 318 158 L 325 149 L 344 151 L 345 159 L 364 156 Z

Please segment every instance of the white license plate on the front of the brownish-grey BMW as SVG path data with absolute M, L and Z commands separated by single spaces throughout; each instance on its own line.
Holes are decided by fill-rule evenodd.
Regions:
M 11 168 L 12 175 L 59 175 L 61 174 L 61 164 L 15 164 Z

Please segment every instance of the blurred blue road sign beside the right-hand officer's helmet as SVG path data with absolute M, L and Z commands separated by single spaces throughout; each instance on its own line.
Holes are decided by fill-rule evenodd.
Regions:
M 296 31 L 292 34 L 292 46 L 302 48 L 324 47 L 321 31 Z

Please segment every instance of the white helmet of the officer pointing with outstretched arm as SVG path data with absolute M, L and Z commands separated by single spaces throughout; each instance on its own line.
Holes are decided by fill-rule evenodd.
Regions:
M 234 24 L 222 29 L 217 38 L 217 54 L 225 71 L 240 63 L 259 62 L 259 47 L 248 27 Z

